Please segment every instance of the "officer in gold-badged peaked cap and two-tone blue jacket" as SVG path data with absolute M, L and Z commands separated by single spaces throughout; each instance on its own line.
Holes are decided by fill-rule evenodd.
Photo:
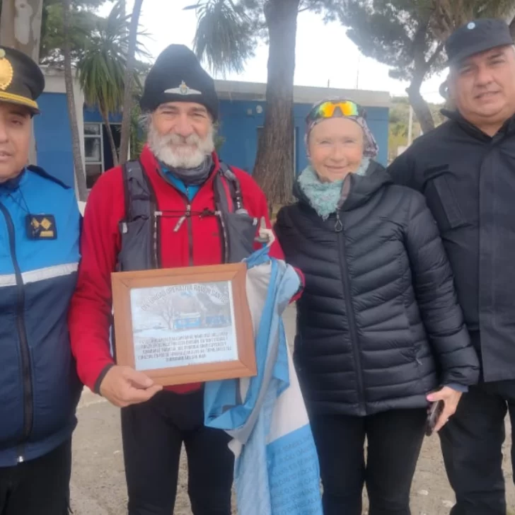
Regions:
M 0 513 L 64 515 L 81 387 L 66 316 L 79 262 L 74 190 L 27 166 L 45 79 L 0 47 Z

